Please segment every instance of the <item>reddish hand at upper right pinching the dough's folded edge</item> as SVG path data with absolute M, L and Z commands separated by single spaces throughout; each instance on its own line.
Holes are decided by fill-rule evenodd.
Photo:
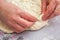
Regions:
M 53 18 L 60 14 L 60 2 L 58 0 L 43 0 L 42 3 L 43 20 Z

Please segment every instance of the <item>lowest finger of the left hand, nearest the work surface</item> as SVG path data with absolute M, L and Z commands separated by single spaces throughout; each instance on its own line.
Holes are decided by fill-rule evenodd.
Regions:
M 24 28 L 22 28 L 22 26 L 18 25 L 16 22 L 9 22 L 9 25 L 14 32 L 19 33 L 24 31 Z

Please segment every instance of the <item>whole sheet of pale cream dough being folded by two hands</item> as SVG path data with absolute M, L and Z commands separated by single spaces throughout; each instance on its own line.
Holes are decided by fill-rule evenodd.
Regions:
M 38 21 L 34 25 L 27 28 L 26 30 L 39 30 L 42 27 L 44 27 L 45 25 L 47 25 L 48 21 L 42 21 L 43 14 L 41 13 L 41 0 L 6 0 L 6 1 L 13 3 L 14 5 L 25 10 L 30 15 L 32 15 L 38 19 Z M 0 29 L 7 33 L 13 32 L 6 26 L 3 26 L 2 23 L 0 23 Z

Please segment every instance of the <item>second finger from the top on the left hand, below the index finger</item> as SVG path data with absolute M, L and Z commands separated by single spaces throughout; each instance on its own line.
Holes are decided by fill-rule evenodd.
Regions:
M 17 24 L 21 25 L 24 29 L 26 29 L 34 24 L 34 22 L 27 21 L 27 20 L 20 18 L 20 17 L 17 17 L 14 20 Z

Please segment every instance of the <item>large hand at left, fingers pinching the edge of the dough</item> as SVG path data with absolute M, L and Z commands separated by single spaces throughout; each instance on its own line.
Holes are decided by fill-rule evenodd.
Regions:
M 37 21 L 35 17 L 5 1 L 0 2 L 0 20 L 17 33 L 24 31 Z

